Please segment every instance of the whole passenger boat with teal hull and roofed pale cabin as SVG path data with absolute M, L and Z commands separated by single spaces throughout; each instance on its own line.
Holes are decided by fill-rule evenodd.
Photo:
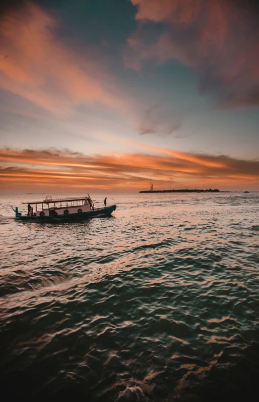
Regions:
M 116 205 L 105 208 L 95 208 L 94 203 L 88 194 L 85 197 L 73 198 L 52 198 L 47 196 L 43 201 L 26 202 L 28 214 L 22 215 L 15 209 L 15 219 L 22 220 L 50 220 L 50 219 L 77 219 L 91 218 L 95 216 L 109 216 L 116 210 Z

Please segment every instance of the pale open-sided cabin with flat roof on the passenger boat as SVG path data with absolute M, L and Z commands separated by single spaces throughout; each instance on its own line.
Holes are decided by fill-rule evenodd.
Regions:
M 81 214 L 94 211 L 94 203 L 88 194 L 85 197 L 52 198 L 47 196 L 43 201 L 26 202 L 30 216 L 56 216 L 68 214 Z

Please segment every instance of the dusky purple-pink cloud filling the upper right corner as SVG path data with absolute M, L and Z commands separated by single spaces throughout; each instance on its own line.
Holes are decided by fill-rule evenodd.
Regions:
M 234 0 L 131 0 L 137 30 L 124 53 L 127 68 L 140 71 L 148 60 L 179 60 L 194 68 L 201 92 L 225 107 L 259 105 L 258 9 Z M 150 42 L 150 23 L 163 24 Z M 152 26 L 152 25 L 151 25 Z

